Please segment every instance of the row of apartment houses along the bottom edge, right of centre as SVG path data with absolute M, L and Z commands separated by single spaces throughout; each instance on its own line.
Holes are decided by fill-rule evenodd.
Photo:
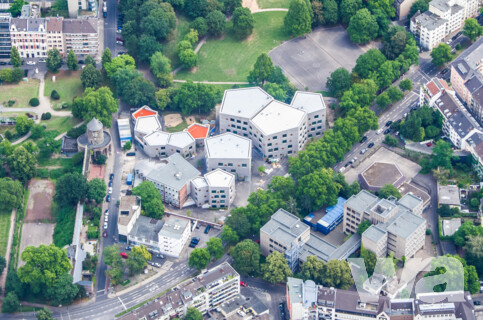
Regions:
M 417 294 L 408 299 L 378 295 L 369 302 L 357 291 L 288 278 L 286 298 L 291 320 L 476 319 L 471 296 L 462 291 Z

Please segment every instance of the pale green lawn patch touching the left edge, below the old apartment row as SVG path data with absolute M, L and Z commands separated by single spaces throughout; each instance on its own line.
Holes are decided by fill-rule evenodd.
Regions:
M 8 107 L 8 101 L 14 100 L 12 108 L 30 107 L 30 99 L 39 96 L 39 80 L 29 79 L 18 84 L 5 84 L 0 86 L 0 104 Z

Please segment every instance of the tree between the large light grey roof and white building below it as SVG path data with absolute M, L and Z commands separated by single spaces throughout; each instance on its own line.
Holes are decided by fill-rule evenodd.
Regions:
M 151 181 L 143 181 L 132 189 L 132 194 L 141 198 L 142 214 L 144 216 L 161 219 L 164 206 L 159 190 Z

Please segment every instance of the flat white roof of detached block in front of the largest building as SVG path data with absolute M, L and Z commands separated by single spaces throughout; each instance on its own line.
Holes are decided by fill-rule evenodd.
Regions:
M 250 159 L 252 141 L 231 132 L 205 140 L 206 157 L 214 159 Z

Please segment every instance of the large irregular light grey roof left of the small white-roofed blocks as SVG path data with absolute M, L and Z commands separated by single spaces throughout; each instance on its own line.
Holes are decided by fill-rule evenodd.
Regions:
M 148 180 L 167 185 L 175 190 L 181 190 L 201 174 L 178 153 L 172 154 L 160 162 L 139 161 L 134 170 L 136 173 L 142 173 Z

